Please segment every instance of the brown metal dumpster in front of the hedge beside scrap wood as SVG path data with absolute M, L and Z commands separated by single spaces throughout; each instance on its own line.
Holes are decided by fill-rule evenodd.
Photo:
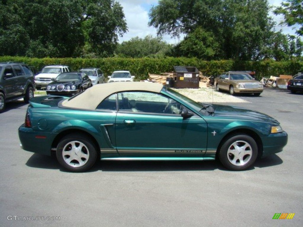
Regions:
M 199 71 L 196 67 L 174 66 L 175 88 L 199 88 Z

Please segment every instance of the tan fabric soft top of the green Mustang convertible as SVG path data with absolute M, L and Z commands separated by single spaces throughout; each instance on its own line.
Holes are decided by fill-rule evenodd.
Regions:
M 82 94 L 66 99 L 62 102 L 63 107 L 95 110 L 103 99 L 120 91 L 151 91 L 159 93 L 163 85 L 151 82 L 116 82 L 96 84 L 88 88 Z

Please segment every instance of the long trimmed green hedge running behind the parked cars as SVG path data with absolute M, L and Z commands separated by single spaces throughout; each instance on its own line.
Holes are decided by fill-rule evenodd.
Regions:
M 0 62 L 20 61 L 34 66 L 40 71 L 45 65 L 64 64 L 77 71 L 84 67 L 99 67 L 105 76 L 116 70 L 128 70 L 136 76 L 136 80 L 148 78 L 148 73 L 160 74 L 173 71 L 173 66 L 194 66 L 204 75 L 219 75 L 224 71 L 255 71 L 257 79 L 278 76 L 280 74 L 295 75 L 303 71 L 301 61 L 204 61 L 197 58 L 26 58 L 0 56 Z

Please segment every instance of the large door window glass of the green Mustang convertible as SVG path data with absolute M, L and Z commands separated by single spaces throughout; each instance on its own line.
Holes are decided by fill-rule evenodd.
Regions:
M 162 94 L 152 92 L 118 93 L 119 110 L 144 113 L 181 114 L 181 104 Z

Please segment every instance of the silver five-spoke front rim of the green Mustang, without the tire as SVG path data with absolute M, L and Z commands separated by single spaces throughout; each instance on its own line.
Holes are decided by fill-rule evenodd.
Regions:
M 252 148 L 249 143 L 238 140 L 228 147 L 228 161 L 235 166 L 243 166 L 249 162 L 252 156 Z

